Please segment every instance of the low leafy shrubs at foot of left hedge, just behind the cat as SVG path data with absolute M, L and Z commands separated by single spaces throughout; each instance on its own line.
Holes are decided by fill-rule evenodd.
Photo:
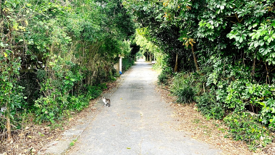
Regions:
M 61 95 L 61 92 L 52 92 L 50 96 L 41 96 L 34 103 L 35 121 L 39 124 L 50 121 L 54 123 L 61 119 L 70 111 L 80 111 L 89 105 L 91 99 L 95 99 L 101 95 L 103 89 L 107 88 L 106 84 L 98 84 L 96 86 L 85 86 L 82 95 L 72 96 L 71 94 Z

